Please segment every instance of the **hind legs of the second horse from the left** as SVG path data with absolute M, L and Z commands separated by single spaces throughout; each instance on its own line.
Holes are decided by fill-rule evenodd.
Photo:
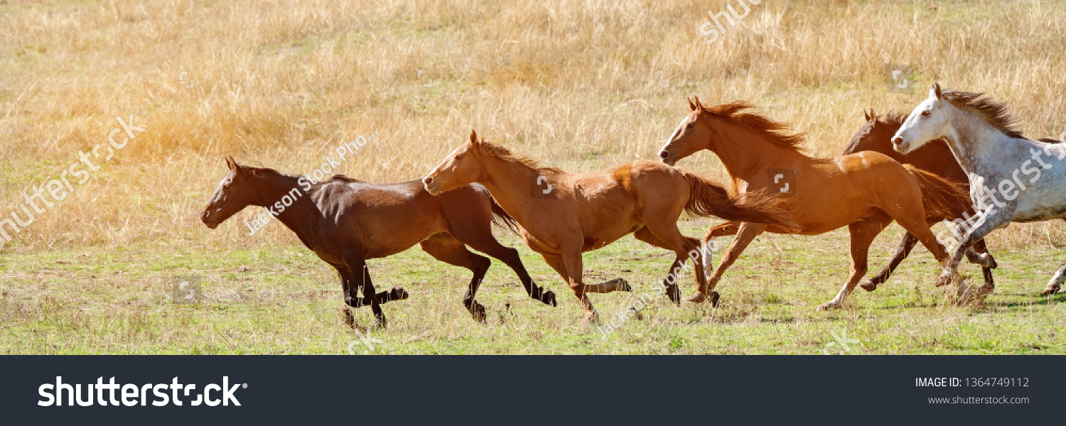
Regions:
M 699 249 L 699 240 L 682 235 L 681 231 L 677 229 L 676 223 L 645 224 L 645 227 L 634 232 L 633 236 L 636 236 L 637 240 L 652 246 L 674 251 L 676 255 L 674 263 L 671 265 L 669 272 L 666 274 L 666 278 L 663 279 L 663 285 L 666 289 L 666 296 L 669 297 L 671 301 L 676 305 L 681 305 L 681 291 L 677 285 L 677 281 L 681 277 L 681 273 L 684 269 L 685 261 L 689 259 L 692 259 L 693 269 L 696 272 L 696 286 L 707 286 L 707 277 L 704 275 L 701 259 L 702 253 Z M 712 300 L 712 304 L 717 305 L 717 300 Z

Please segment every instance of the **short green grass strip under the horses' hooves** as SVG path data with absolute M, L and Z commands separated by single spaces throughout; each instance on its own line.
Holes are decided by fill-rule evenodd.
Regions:
M 680 225 L 698 235 L 710 224 Z M 276 224 L 268 231 L 288 232 Z M 876 241 L 870 274 L 885 264 L 899 232 L 893 226 Z M 577 300 L 539 257 L 498 234 L 559 295 L 558 308 L 527 298 L 515 275 L 494 262 L 478 296 L 488 322 L 477 324 L 461 302 L 469 273 L 416 248 L 370 262 L 378 290 L 410 293 L 384 307 L 388 329 L 369 330 L 381 341 L 373 353 L 822 354 L 833 332 L 859 341 L 851 354 L 1066 353 L 1066 296 L 1038 296 L 1066 250 L 996 250 L 992 237 L 996 292 L 984 306 L 958 308 L 942 302 L 946 290 L 932 285 L 936 263 L 919 248 L 876 292 L 857 290 L 846 309 L 814 312 L 847 276 L 846 231 L 763 235 L 726 274 L 717 309 L 656 297 L 641 318 L 602 339 L 582 324 Z M 601 324 L 651 293 L 669 261 L 631 236 L 585 253 L 587 282 L 624 277 L 633 285 L 633 293 L 592 296 Z M 980 279 L 974 265 L 962 272 Z M 188 275 L 203 277 L 205 298 L 175 305 L 169 280 Z M 356 339 L 341 321 L 336 273 L 304 247 L 42 251 L 0 258 L 0 354 L 346 354 Z M 691 294 L 692 278 L 681 283 Z M 354 314 L 366 332 L 369 309 Z

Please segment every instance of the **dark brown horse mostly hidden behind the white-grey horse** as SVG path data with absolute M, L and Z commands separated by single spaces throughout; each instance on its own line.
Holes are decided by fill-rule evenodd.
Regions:
M 903 154 L 892 148 L 892 136 L 900 130 L 900 126 L 903 125 L 906 116 L 897 112 L 878 116 L 872 110 L 869 113 L 863 112 L 863 114 L 866 114 L 867 122 L 855 132 L 852 142 L 847 144 L 847 149 L 844 149 L 844 155 L 860 151 L 876 151 L 888 155 L 900 164 L 909 164 L 952 181 L 968 182 L 969 177 L 966 175 L 966 171 L 963 171 L 963 167 L 958 165 L 955 158 L 952 157 L 951 148 L 948 148 L 948 143 L 943 140 L 930 142 L 920 149 Z M 968 183 L 966 187 L 969 189 Z M 936 222 L 943 219 L 952 220 L 964 215 L 972 215 L 974 211 L 970 204 L 969 198 L 957 199 L 952 214 L 943 217 L 928 217 L 928 219 Z M 892 256 L 892 260 L 888 262 L 888 265 L 872 279 L 860 283 L 859 286 L 868 292 L 872 292 L 877 289 L 877 284 L 887 282 L 888 277 L 892 275 L 897 266 L 915 248 L 915 244 L 918 244 L 918 239 L 910 232 L 904 232 L 903 239 L 900 241 L 900 247 L 897 248 L 895 255 Z M 982 239 L 973 243 L 972 249 L 966 251 L 966 257 L 971 263 L 981 265 L 981 272 L 985 278 L 985 285 L 979 289 L 974 296 L 982 298 L 990 294 L 996 288 L 991 271 L 996 267 L 996 259 L 988 252 L 985 241 Z

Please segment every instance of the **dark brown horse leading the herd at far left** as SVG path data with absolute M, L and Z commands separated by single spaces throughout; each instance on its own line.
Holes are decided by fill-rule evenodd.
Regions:
M 485 321 L 485 307 L 474 295 L 491 261 L 467 246 L 506 263 L 530 297 L 555 306 L 555 294 L 533 282 L 518 250 L 492 236 L 490 224 L 515 231 L 515 222 L 480 185 L 434 197 L 417 180 L 370 183 L 337 175 L 312 183 L 302 176 L 243 166 L 232 158 L 226 159 L 226 165 L 229 174 L 200 214 L 204 225 L 214 229 L 248 206 L 268 209 L 307 248 L 337 268 L 344 302 L 353 308 L 370 305 L 382 326 L 386 322 L 381 305 L 405 299 L 407 293 L 394 288 L 375 294 L 367 259 L 395 255 L 415 244 L 439 261 L 473 272 L 463 305 L 474 320 Z M 358 289 L 365 297 L 356 297 Z M 352 324 L 351 314 L 345 311 L 345 315 Z

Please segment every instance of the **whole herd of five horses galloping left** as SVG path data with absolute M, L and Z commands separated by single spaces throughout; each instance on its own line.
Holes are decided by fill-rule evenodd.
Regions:
M 538 252 L 581 301 L 585 320 L 595 321 L 589 293 L 631 288 L 621 278 L 583 282 L 582 253 L 629 233 L 675 253 L 666 278 L 653 285 L 671 301 L 681 302 L 677 277 L 691 259 L 697 286 L 688 300 L 716 306 L 722 275 L 760 233 L 814 235 L 847 226 L 851 274 L 836 297 L 818 307 L 824 310 L 842 307 L 856 285 L 876 290 L 918 242 L 942 266 L 937 285 L 958 282 L 957 302 L 981 300 L 995 288 L 996 260 L 985 247 L 986 234 L 1011 222 L 1066 217 L 1066 166 L 1056 167 L 1066 148 L 1059 141 L 1023 137 L 1005 105 L 983 94 L 934 84 L 908 116 L 866 113 L 867 122 L 835 158 L 806 155 L 803 133 L 750 112 L 747 102 L 708 108 L 695 98 L 689 108 L 658 153 L 661 162 L 639 160 L 582 174 L 540 167 L 475 132 L 423 179 L 401 183 L 340 175 L 313 182 L 227 158 L 230 171 L 200 219 L 214 229 L 247 206 L 289 201 L 271 213 L 337 269 L 348 306 L 369 305 L 385 326 L 381 306 L 408 295 L 402 288 L 375 293 L 366 260 L 415 244 L 473 273 L 463 305 L 477 321 L 486 318 L 474 296 L 491 262 L 471 248 L 514 269 L 531 298 L 555 306 L 554 293 L 533 281 L 518 251 L 492 236 L 494 224 Z M 728 187 L 674 167 L 701 149 L 722 160 Z M 727 222 L 700 241 L 678 230 L 682 212 Z M 895 256 L 859 284 L 870 244 L 893 220 L 906 230 Z M 951 242 L 930 229 L 943 220 L 953 224 Z M 715 269 L 704 248 L 723 235 L 737 237 Z M 983 286 L 958 281 L 963 256 L 982 266 Z M 1057 292 L 1064 279 L 1066 266 L 1043 294 Z M 357 297 L 359 290 L 364 297 Z

